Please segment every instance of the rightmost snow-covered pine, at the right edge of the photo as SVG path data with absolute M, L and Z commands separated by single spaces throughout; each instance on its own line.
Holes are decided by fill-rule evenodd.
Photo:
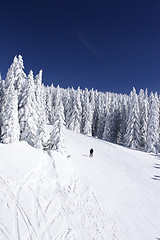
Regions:
M 149 97 L 149 119 L 146 142 L 147 152 L 159 151 L 159 99 L 157 93 L 151 92 Z

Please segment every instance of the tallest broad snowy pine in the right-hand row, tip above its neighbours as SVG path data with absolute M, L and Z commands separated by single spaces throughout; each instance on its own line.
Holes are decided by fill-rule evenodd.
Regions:
M 126 134 L 124 144 L 132 149 L 140 149 L 140 115 L 139 115 L 138 96 L 135 88 L 130 93 L 129 97 L 129 112 L 127 120 Z

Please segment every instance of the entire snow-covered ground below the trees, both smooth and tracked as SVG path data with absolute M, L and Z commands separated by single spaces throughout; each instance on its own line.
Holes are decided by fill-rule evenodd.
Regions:
M 160 156 L 69 130 L 65 142 L 66 155 L 0 144 L 0 239 L 160 239 Z

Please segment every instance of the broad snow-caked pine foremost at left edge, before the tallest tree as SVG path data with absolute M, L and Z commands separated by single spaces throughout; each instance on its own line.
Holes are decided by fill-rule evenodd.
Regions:
M 18 122 L 18 96 L 14 88 L 13 72 L 9 72 L 3 86 L 1 107 L 1 142 L 13 143 L 19 141 L 20 127 Z

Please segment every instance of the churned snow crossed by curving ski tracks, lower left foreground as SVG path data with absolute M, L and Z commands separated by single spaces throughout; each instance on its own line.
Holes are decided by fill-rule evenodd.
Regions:
M 67 158 L 47 154 L 45 169 L 31 172 L 21 183 L 0 177 L 0 200 L 5 194 L 10 205 L 3 202 L 0 207 L 10 216 L 4 224 L 0 219 L 0 239 L 116 240 L 115 226 L 87 180 L 78 178 Z

